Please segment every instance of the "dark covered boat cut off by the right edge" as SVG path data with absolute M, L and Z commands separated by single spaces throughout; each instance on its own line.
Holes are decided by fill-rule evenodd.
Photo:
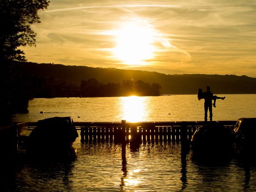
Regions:
M 256 118 L 239 118 L 234 127 L 235 146 L 240 150 L 255 150 Z

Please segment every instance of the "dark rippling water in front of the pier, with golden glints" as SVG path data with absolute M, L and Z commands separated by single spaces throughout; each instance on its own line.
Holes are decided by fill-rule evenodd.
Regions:
M 120 144 L 82 144 L 77 138 L 74 149 L 75 154 L 58 159 L 20 152 L 16 161 L 1 164 L 0 191 L 256 191 L 252 158 L 193 158 L 176 142 L 127 144 L 126 161 Z

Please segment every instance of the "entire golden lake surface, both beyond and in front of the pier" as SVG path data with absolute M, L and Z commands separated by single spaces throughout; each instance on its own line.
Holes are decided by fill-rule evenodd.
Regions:
M 214 120 L 255 117 L 256 95 L 225 95 L 213 109 Z M 195 95 L 117 98 L 52 98 L 30 101 L 28 114 L 15 121 L 72 116 L 74 121 L 190 121 L 204 119 L 204 102 Z M 40 111 L 44 111 L 40 114 Z M 80 116 L 80 118 L 78 118 Z M 112 142 L 73 145 L 76 154 L 62 160 L 33 160 L 21 153 L 1 165 L 0 191 L 144 192 L 256 191 L 255 159 L 230 156 L 195 159 L 177 142 L 142 142 L 139 149 Z

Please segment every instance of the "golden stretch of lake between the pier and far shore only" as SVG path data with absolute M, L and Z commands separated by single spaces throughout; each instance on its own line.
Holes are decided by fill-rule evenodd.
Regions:
M 255 117 L 256 94 L 225 96 L 225 100 L 216 101 L 213 120 Z M 75 122 L 204 120 L 204 100 L 199 101 L 196 95 L 36 98 L 29 102 L 28 110 L 28 114 L 16 114 L 13 121 L 36 122 L 54 116 L 71 116 Z

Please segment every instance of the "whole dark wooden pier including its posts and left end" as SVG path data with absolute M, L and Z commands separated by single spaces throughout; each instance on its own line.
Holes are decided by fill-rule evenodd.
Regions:
M 37 122 L 15 122 L 10 127 L 1 127 L 0 146 L 7 152 L 17 152 L 22 137 L 27 137 Z M 236 121 L 180 121 L 180 122 L 74 122 L 80 130 L 81 142 L 122 143 L 122 159 L 126 159 L 126 144 L 138 147 L 141 142 L 181 142 L 183 149 L 188 146 L 196 129 L 205 124 L 221 124 L 232 130 Z M 25 134 L 26 133 L 26 134 Z M 50 134 L 50 133 L 49 133 Z M 7 147 L 6 147 L 7 146 Z M 1 149 L 1 147 L 0 147 Z

